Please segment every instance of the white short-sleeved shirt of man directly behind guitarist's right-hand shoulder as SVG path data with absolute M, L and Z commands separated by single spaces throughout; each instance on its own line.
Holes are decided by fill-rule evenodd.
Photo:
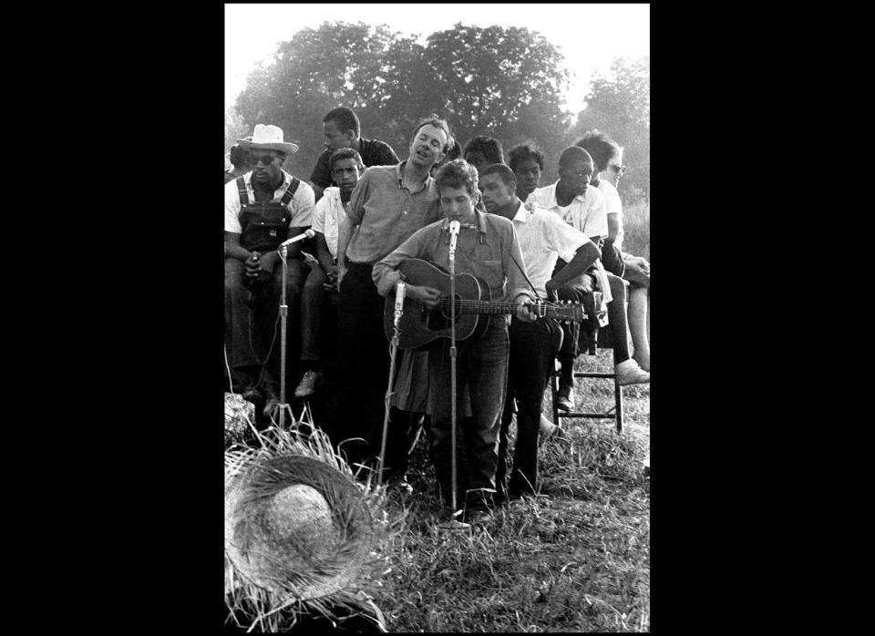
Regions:
M 520 201 L 513 226 L 526 260 L 526 274 L 541 298 L 545 298 L 546 283 L 551 279 L 557 259 L 571 262 L 574 254 L 590 240 L 552 212 L 532 203 Z

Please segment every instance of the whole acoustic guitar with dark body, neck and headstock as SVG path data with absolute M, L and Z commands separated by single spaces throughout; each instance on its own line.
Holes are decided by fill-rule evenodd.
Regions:
M 404 313 L 398 321 L 398 347 L 418 349 L 438 338 L 450 337 L 449 274 L 437 265 L 420 259 L 401 263 L 398 271 L 404 274 L 406 283 L 434 287 L 443 294 L 438 306 L 429 310 L 424 304 L 405 296 Z M 530 311 L 539 317 L 550 316 L 558 321 L 580 323 L 587 319 L 581 303 L 537 303 Z M 475 276 L 456 273 L 456 340 L 477 339 L 489 326 L 489 318 L 481 315 L 507 315 L 517 313 L 516 303 L 493 303 L 489 285 Z M 386 338 L 395 334 L 395 292 L 386 297 L 383 314 Z

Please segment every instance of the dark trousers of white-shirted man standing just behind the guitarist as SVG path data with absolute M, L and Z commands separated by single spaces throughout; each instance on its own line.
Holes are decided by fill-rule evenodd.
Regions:
M 538 432 L 544 390 L 553 372 L 553 359 L 563 340 L 561 327 L 552 318 L 524 323 L 514 316 L 510 323 L 508 395 L 501 416 L 497 490 L 517 497 L 534 493 L 538 482 Z M 508 430 L 517 400 L 517 441 L 513 454 L 510 485 L 505 488 Z

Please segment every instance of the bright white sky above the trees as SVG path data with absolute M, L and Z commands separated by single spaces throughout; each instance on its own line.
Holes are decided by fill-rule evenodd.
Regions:
M 325 21 L 387 25 L 405 36 L 425 38 L 436 31 L 466 26 L 524 26 L 539 32 L 565 56 L 574 77 L 566 108 L 583 107 L 592 73 L 607 74 L 614 57 L 637 59 L 650 53 L 650 5 L 554 4 L 290 4 L 225 5 L 225 108 L 246 86 L 258 61 L 268 61 L 279 42 L 304 27 Z

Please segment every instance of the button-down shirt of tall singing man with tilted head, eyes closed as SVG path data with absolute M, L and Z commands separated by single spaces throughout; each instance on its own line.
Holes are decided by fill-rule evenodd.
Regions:
M 430 176 L 416 192 L 402 184 L 404 165 L 374 166 L 358 180 L 346 216 L 357 225 L 346 248 L 350 262 L 373 265 L 415 231 L 440 220 L 438 190 Z

